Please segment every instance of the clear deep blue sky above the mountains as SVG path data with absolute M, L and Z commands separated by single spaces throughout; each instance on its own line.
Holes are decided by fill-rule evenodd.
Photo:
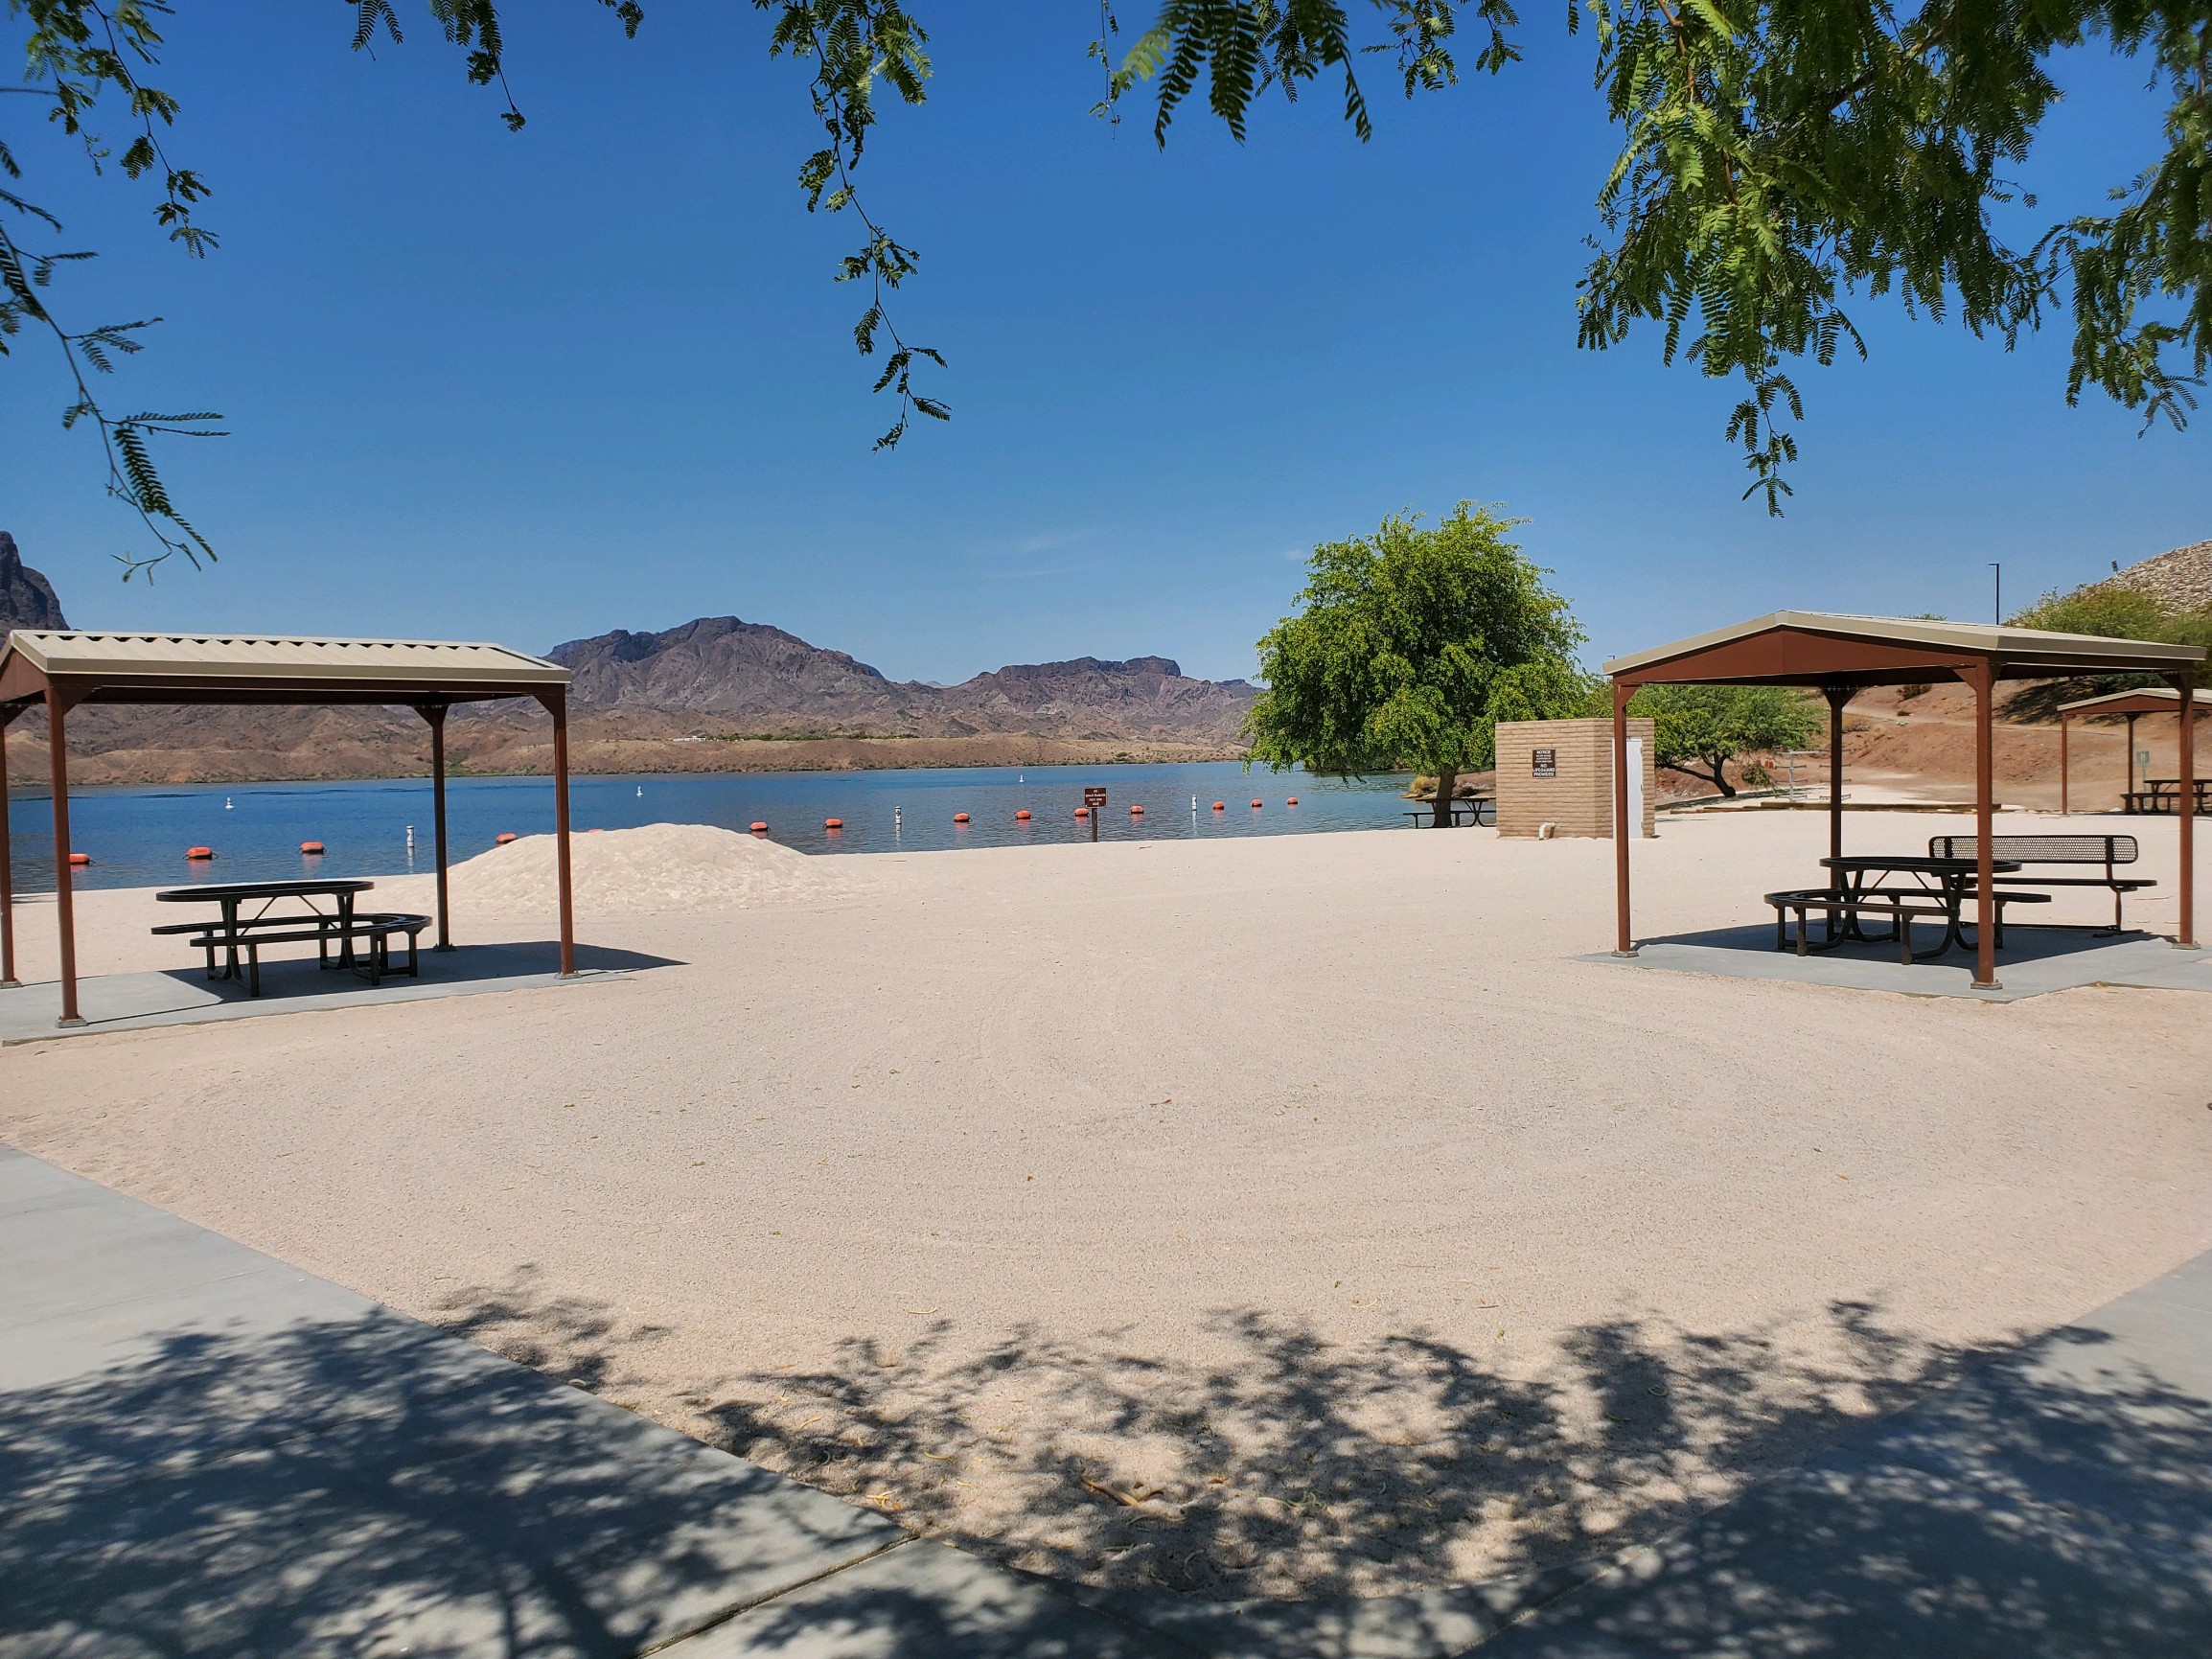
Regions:
M 1460 498 L 1531 520 L 1593 661 L 1776 606 L 1982 617 L 1989 560 L 2011 599 L 2212 535 L 2212 425 L 2139 438 L 2066 409 L 2062 334 L 2004 354 L 1887 301 L 1856 312 L 1869 363 L 1798 376 L 1787 518 L 1739 502 L 1730 385 L 1655 336 L 1575 349 L 1615 135 L 1553 13 L 1442 97 L 1387 97 L 1378 62 L 1374 144 L 1316 93 L 1243 148 L 1192 108 L 1166 153 L 1141 108 L 1088 115 L 1093 9 L 918 13 L 931 100 L 860 179 L 922 252 L 898 319 L 951 363 L 949 427 L 869 453 L 889 409 L 830 281 L 858 226 L 803 212 L 805 77 L 750 9 L 648 0 L 635 42 L 582 0 L 513 9 L 509 135 L 427 9 L 372 60 L 338 7 L 239 0 L 186 7 L 155 77 L 215 184 L 212 259 L 11 128 L 33 199 L 102 250 L 58 305 L 168 319 L 115 405 L 228 418 L 166 451 L 221 564 L 115 582 L 135 526 L 31 341 L 0 369 L 0 526 L 80 626 L 540 650 L 737 613 L 916 679 L 1241 675 L 1305 549 Z M 2037 217 L 2095 210 L 2157 142 L 2139 66 L 2062 80 Z

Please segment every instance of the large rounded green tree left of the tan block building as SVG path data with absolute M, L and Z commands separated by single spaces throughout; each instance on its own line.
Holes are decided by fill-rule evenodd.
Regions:
M 1433 772 L 1442 825 L 1458 774 L 1493 763 L 1498 721 L 1575 714 L 1584 633 L 1506 540 L 1515 522 L 1460 502 L 1433 526 L 1394 515 L 1369 538 L 1316 546 L 1298 615 L 1259 641 L 1267 690 L 1245 721 L 1252 761 Z

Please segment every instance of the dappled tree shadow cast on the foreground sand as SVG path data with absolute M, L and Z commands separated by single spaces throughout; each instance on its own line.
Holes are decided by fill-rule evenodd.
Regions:
M 1657 1537 L 1953 1378 L 1982 1352 L 1829 1310 L 1825 1360 L 1763 1332 L 1617 1318 L 1540 1376 L 1433 1334 L 1329 1343 L 1228 1312 L 1206 1365 L 947 1321 L 814 1371 L 641 1385 L 602 1307 L 526 1281 L 449 1327 L 1006 1566 L 1201 1601 L 1374 1597 L 1540 1573 Z

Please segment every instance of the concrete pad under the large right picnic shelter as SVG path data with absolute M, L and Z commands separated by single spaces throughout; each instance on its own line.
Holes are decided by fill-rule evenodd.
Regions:
M 1924 929 L 1929 942 L 1936 929 Z M 2086 984 L 2124 984 L 2152 991 L 2212 991 L 2212 956 L 2183 951 L 2172 940 L 2121 933 L 2099 938 L 2079 929 L 2008 927 L 1997 951 L 1997 987 L 1975 989 L 1973 956 L 1949 951 L 1900 962 L 1896 945 L 1843 945 L 1798 956 L 1774 949 L 1772 927 L 1732 927 L 1712 933 L 1659 938 L 1635 956 L 1597 951 L 1577 958 L 1661 973 L 1721 973 L 1732 980 L 1834 984 L 1851 991 L 1896 991 L 1918 998 L 2020 1002 Z

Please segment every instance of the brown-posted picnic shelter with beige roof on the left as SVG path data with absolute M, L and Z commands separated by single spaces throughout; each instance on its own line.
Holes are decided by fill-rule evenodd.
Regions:
M 445 714 L 453 703 L 531 697 L 553 717 L 553 825 L 560 869 L 560 971 L 575 973 L 568 878 L 568 670 L 493 644 L 307 639 L 296 635 L 84 633 L 18 628 L 0 646 L 0 739 L 44 706 L 53 768 L 55 918 L 62 1024 L 77 1015 L 77 938 L 69 878 L 69 710 L 82 703 L 400 703 L 431 734 L 438 841 L 438 949 L 451 949 L 445 847 Z M 7 768 L 0 765 L 0 984 L 15 982 Z

